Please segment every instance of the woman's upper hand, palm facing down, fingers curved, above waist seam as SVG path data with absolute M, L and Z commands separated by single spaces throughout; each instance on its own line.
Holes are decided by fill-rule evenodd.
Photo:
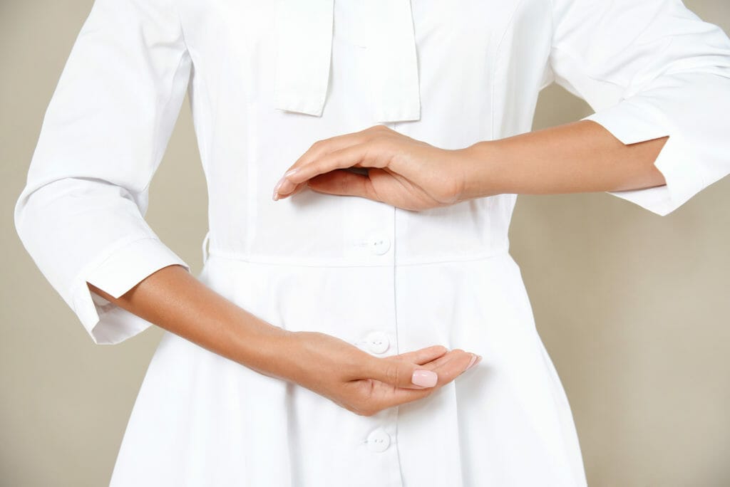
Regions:
M 273 198 L 310 187 L 408 210 L 448 206 L 458 203 L 464 186 L 464 157 L 464 149 L 439 149 L 375 125 L 312 144 L 277 183 Z M 357 174 L 347 168 L 368 171 Z

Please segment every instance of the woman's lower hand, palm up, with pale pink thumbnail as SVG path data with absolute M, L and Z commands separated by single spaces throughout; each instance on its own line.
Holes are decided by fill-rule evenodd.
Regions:
M 432 394 L 481 357 L 430 346 L 391 357 L 374 357 L 345 340 L 320 332 L 287 332 L 272 344 L 262 370 L 327 397 L 361 416 Z

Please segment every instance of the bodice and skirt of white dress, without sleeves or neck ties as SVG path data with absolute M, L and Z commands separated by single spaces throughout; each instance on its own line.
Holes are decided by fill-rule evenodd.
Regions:
M 201 281 L 274 326 L 376 357 L 442 344 L 484 358 L 428 398 L 366 417 L 166 333 L 112 486 L 584 486 L 569 406 L 508 253 L 516 195 L 426 211 L 309 190 L 272 200 L 312 143 L 377 123 L 364 35 L 377 19 L 364 2 L 334 1 L 321 117 L 274 108 L 276 2 L 179 3 L 210 196 Z M 411 5 L 420 120 L 385 125 L 445 149 L 529 130 L 548 1 Z

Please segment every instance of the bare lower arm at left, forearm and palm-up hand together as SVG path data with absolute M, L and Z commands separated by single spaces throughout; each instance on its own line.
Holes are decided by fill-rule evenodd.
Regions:
M 331 335 L 283 330 L 227 300 L 181 265 L 157 270 L 118 298 L 87 285 L 164 330 L 258 373 L 304 386 L 361 416 L 427 397 L 480 361 L 461 348 L 439 345 L 374 357 Z M 429 387 L 412 383 L 416 371 L 434 375 L 437 382 Z

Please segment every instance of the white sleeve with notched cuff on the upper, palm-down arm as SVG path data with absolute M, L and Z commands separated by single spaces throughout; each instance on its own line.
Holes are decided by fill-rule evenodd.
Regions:
M 666 184 L 608 192 L 659 215 L 730 173 L 730 39 L 680 0 L 552 0 L 550 71 L 624 144 L 669 136 Z

